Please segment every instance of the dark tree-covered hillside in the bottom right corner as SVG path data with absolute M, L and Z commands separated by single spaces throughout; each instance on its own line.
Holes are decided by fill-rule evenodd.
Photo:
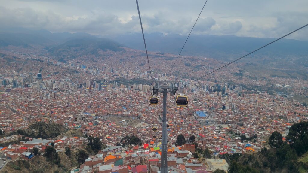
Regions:
M 308 172 L 308 122 L 294 123 L 283 140 L 275 131 L 270 135 L 270 148 L 255 153 L 225 155 L 230 161 L 229 173 L 304 173 Z

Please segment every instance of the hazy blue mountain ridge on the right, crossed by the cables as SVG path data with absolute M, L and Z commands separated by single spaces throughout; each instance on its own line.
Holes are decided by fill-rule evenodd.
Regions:
M 133 49 L 144 50 L 142 34 L 125 34 L 107 36 L 117 42 L 125 44 Z M 186 35 L 163 35 L 161 33 L 145 34 L 145 40 L 149 51 L 168 52 L 179 54 L 187 36 Z M 207 56 L 220 60 L 238 58 L 271 41 L 275 38 L 251 38 L 237 37 L 233 35 L 191 35 L 181 55 Z M 306 55 L 308 42 L 282 39 L 265 47 L 254 55 L 282 56 Z

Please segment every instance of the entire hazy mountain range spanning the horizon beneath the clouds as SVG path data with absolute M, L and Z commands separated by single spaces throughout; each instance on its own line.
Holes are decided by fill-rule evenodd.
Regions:
M 177 55 L 183 46 L 186 35 L 161 33 L 145 34 L 149 51 Z M 274 38 L 237 37 L 234 35 L 191 35 L 181 55 L 215 58 L 229 62 L 241 57 L 271 41 Z M 87 33 L 51 33 L 47 30 L 11 28 L 0 30 L 0 47 L 31 45 L 45 46 L 48 55 L 62 58 L 94 54 L 99 50 L 122 51 L 123 47 L 144 50 L 142 34 L 122 34 L 97 36 Z M 244 58 L 241 62 L 270 64 L 274 66 L 308 67 L 308 42 L 294 39 L 281 39 L 270 46 Z M 69 52 L 74 52 L 70 56 Z M 253 57 L 253 58 L 251 58 Z M 245 60 L 246 59 L 246 60 Z M 294 63 L 296 63 L 294 65 Z M 295 68 L 296 69 L 296 68 Z

